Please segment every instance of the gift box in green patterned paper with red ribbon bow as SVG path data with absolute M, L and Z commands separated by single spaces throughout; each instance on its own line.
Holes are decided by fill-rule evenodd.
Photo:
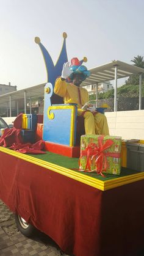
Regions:
M 80 169 L 120 175 L 120 153 L 121 137 L 82 135 Z

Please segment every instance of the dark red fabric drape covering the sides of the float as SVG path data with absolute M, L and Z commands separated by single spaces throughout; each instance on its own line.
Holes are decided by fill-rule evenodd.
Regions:
M 143 192 L 144 180 L 103 192 L 0 152 L 0 198 L 68 254 L 137 255 Z

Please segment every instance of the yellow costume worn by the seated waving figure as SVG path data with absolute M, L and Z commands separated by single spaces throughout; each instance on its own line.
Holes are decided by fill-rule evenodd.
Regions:
M 63 97 L 66 104 L 77 104 L 77 114 L 84 117 L 85 134 L 109 135 L 107 119 L 104 114 L 81 109 L 88 102 L 88 92 L 86 89 L 68 83 L 61 77 L 57 78 L 55 82 L 54 93 Z

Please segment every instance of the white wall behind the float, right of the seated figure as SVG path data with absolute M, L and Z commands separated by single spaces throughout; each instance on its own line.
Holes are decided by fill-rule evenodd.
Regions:
M 144 110 L 106 112 L 110 135 L 144 139 Z

